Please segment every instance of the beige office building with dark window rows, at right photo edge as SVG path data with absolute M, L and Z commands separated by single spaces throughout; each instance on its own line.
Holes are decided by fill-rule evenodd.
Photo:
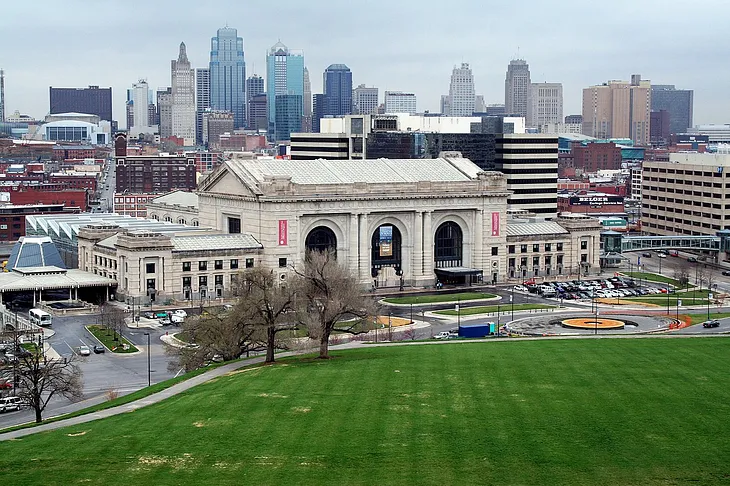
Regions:
M 654 235 L 715 236 L 730 226 L 730 155 L 674 153 L 643 162 L 641 227 Z

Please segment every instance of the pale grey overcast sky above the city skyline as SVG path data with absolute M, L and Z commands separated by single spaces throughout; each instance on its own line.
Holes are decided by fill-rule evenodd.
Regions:
M 126 89 L 146 78 L 169 86 L 184 41 L 205 67 L 210 38 L 228 24 L 244 39 L 247 75 L 265 75 L 277 39 L 304 50 L 312 91 L 322 71 L 347 64 L 353 84 L 413 91 L 439 110 L 454 65 L 471 64 L 477 94 L 504 103 L 518 55 L 533 82 L 562 82 L 564 112 L 581 112 L 581 89 L 639 73 L 694 89 L 694 123 L 730 123 L 727 0 L 36 0 L 2 1 L 0 67 L 6 114 L 42 118 L 48 87 L 111 86 L 124 125 Z

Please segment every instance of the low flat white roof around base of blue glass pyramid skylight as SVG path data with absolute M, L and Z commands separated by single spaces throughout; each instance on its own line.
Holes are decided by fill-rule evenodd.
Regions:
M 48 269 L 50 273 L 0 273 L 0 293 L 38 289 L 50 290 L 114 286 L 117 284 L 116 280 L 90 272 L 85 272 L 83 270 L 71 269 L 58 272 L 59 269 L 55 267 L 44 268 Z

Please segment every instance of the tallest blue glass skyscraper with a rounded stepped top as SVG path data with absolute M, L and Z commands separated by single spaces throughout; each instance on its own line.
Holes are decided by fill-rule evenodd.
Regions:
M 236 128 L 246 126 L 246 62 L 243 38 L 231 27 L 210 40 L 210 107 L 233 113 Z

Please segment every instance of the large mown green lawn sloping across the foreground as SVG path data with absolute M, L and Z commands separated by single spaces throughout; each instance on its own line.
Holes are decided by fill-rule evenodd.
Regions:
M 373 347 L 0 443 L 8 484 L 727 484 L 730 340 Z M 10 481 L 12 479 L 12 481 Z

